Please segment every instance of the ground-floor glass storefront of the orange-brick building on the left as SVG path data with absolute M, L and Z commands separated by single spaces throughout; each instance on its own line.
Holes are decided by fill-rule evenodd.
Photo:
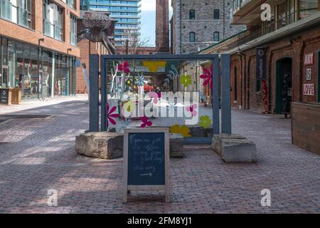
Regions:
M 75 95 L 75 57 L 0 37 L 0 88 L 22 99 Z

